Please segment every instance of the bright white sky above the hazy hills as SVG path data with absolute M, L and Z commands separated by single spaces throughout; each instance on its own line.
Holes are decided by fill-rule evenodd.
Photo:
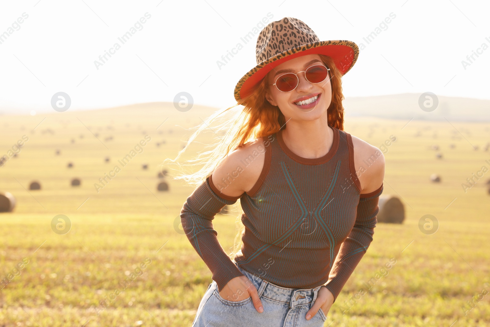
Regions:
M 241 37 L 263 18 L 283 17 L 302 20 L 320 40 L 364 44 L 343 77 L 345 97 L 490 99 L 488 1 L 376 2 L 1 1 L 0 34 L 8 37 L 0 38 L 0 112 L 52 112 L 57 92 L 70 96 L 70 110 L 173 101 L 179 92 L 197 104 L 231 106 L 236 83 L 256 65 L 256 37 L 246 44 Z M 118 40 L 135 24 L 129 40 Z M 373 31 L 368 44 L 363 38 Z M 115 43 L 120 49 L 96 67 Z M 217 61 L 237 43 L 243 49 L 220 69 Z

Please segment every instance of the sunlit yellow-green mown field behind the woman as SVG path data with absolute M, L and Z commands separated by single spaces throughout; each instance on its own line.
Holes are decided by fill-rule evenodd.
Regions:
M 163 167 L 170 189 L 159 192 L 157 173 L 182 149 L 190 136 L 186 128 L 211 112 L 149 103 L 0 116 L 0 156 L 28 138 L 0 168 L 0 192 L 17 199 L 14 212 L 0 213 L 0 277 L 13 277 L 0 286 L 0 326 L 191 326 L 212 281 L 178 226 L 193 188 L 172 180 L 172 167 Z M 376 226 L 325 326 L 490 326 L 490 194 L 484 187 L 490 173 L 477 173 L 490 167 L 488 124 L 355 117 L 346 119 L 345 130 L 380 149 L 396 137 L 382 148 L 383 194 L 402 199 L 406 219 Z M 198 141 L 215 139 L 208 129 Z M 141 140 L 145 146 L 135 149 Z M 191 145 L 184 159 L 202 144 Z M 131 150 L 137 154 L 119 163 Z M 99 178 L 114 174 L 115 166 L 120 171 L 102 184 Z M 441 182 L 430 181 L 433 173 Z M 472 174 L 484 176 L 465 192 L 462 184 Z M 73 177 L 80 186 L 71 186 Z M 41 190 L 28 190 L 33 180 Z M 214 220 L 227 251 L 238 210 Z M 65 234 L 51 227 L 60 214 L 72 224 Z M 437 232 L 421 231 L 425 214 L 437 218 Z M 396 260 L 392 268 L 383 269 L 390 260 Z

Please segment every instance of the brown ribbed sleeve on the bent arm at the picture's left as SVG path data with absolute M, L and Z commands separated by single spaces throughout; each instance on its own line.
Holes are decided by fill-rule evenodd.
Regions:
M 218 291 L 235 277 L 244 276 L 221 247 L 212 220 L 225 204 L 239 197 L 222 194 L 212 183 L 211 176 L 187 198 L 180 212 L 182 227 L 192 246 L 213 273 Z

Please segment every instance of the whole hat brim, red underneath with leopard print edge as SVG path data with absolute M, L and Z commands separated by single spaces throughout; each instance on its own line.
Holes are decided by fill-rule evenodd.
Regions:
M 345 75 L 356 63 L 359 56 L 359 47 L 354 42 L 347 40 L 320 41 L 281 52 L 261 62 L 240 78 L 235 86 L 235 100 L 240 101 L 245 98 L 253 87 L 276 66 L 296 57 L 313 53 L 330 56 L 335 61 L 335 65 L 341 74 Z

